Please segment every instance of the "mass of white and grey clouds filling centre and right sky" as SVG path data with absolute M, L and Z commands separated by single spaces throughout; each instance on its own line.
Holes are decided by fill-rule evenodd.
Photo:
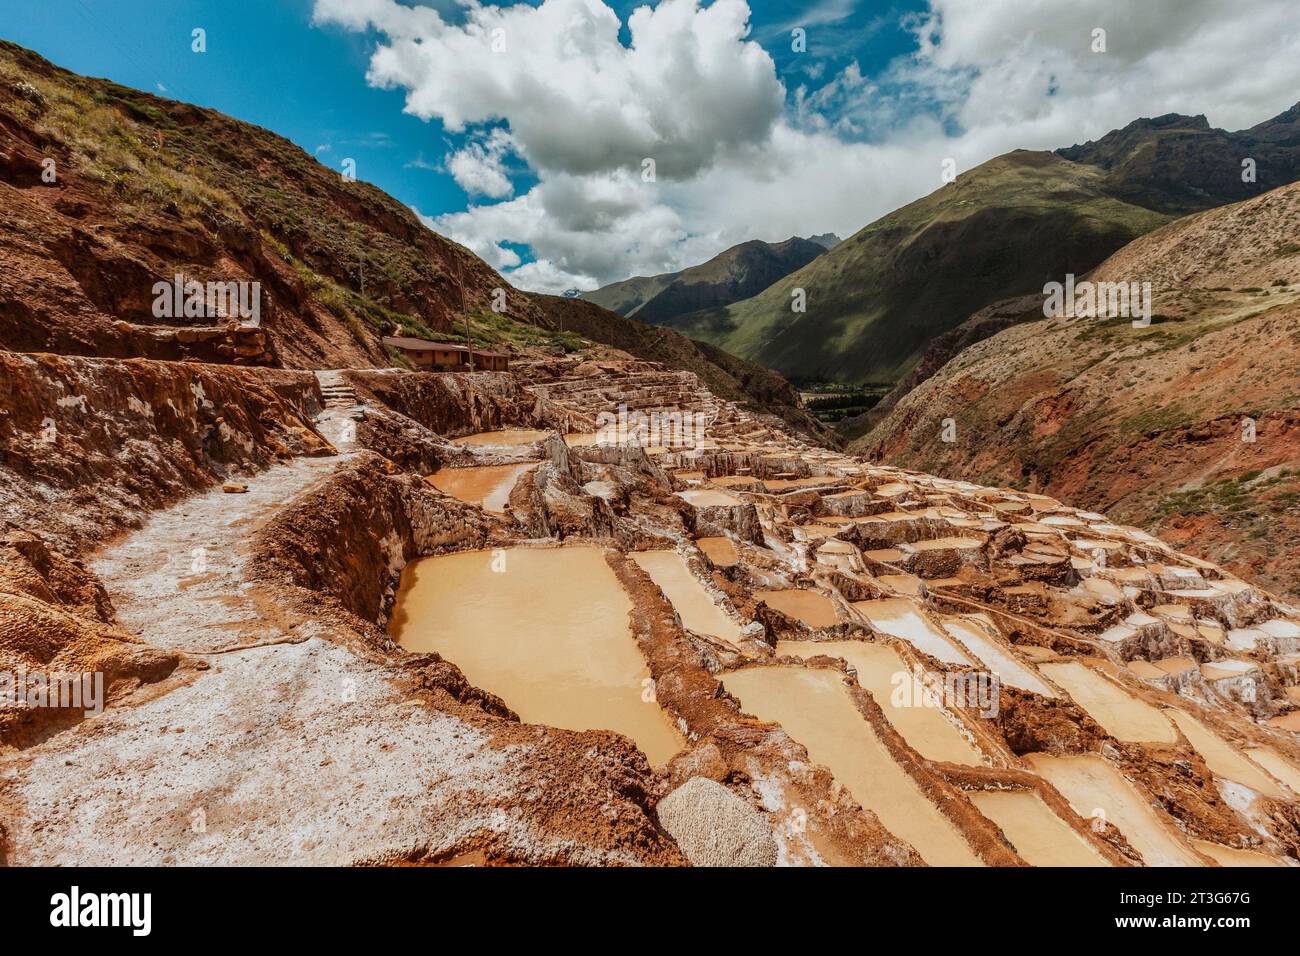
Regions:
M 1166 112 L 1239 129 L 1300 95 L 1294 0 L 931 0 L 907 21 L 914 56 L 805 68 L 820 86 L 794 90 L 744 0 L 638 7 L 627 44 L 602 0 L 439 7 L 316 0 L 313 16 L 377 31 L 368 82 L 465 134 L 446 168 L 471 204 L 425 221 L 545 291 L 684 268 L 751 238 L 849 235 L 937 189 L 948 157 L 968 169 Z M 810 49 L 818 30 L 861 30 L 861 8 L 810 4 Z M 510 163 L 536 178 L 523 195 Z

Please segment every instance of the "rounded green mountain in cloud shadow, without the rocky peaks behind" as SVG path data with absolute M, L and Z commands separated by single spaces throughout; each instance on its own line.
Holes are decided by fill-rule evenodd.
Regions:
M 1083 272 L 1169 220 L 1101 185 L 1100 170 L 1049 152 L 998 156 L 759 295 L 667 324 L 797 380 L 894 381 L 988 302 Z

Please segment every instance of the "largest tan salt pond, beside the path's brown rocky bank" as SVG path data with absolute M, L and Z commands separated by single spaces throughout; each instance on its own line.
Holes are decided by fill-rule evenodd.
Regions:
M 498 570 L 499 568 L 499 570 Z M 389 627 L 436 650 L 529 723 L 614 730 L 654 765 L 681 736 L 654 702 L 628 598 L 598 548 L 510 548 L 411 562 Z

